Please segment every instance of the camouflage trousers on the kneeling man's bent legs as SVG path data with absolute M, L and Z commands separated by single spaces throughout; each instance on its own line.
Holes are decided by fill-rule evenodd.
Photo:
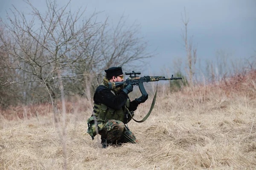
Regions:
M 121 143 L 137 143 L 139 142 L 134 133 L 125 127 L 125 124 L 118 120 L 108 120 L 104 123 L 103 129 L 99 132 L 102 143 L 105 144 L 121 144 Z

